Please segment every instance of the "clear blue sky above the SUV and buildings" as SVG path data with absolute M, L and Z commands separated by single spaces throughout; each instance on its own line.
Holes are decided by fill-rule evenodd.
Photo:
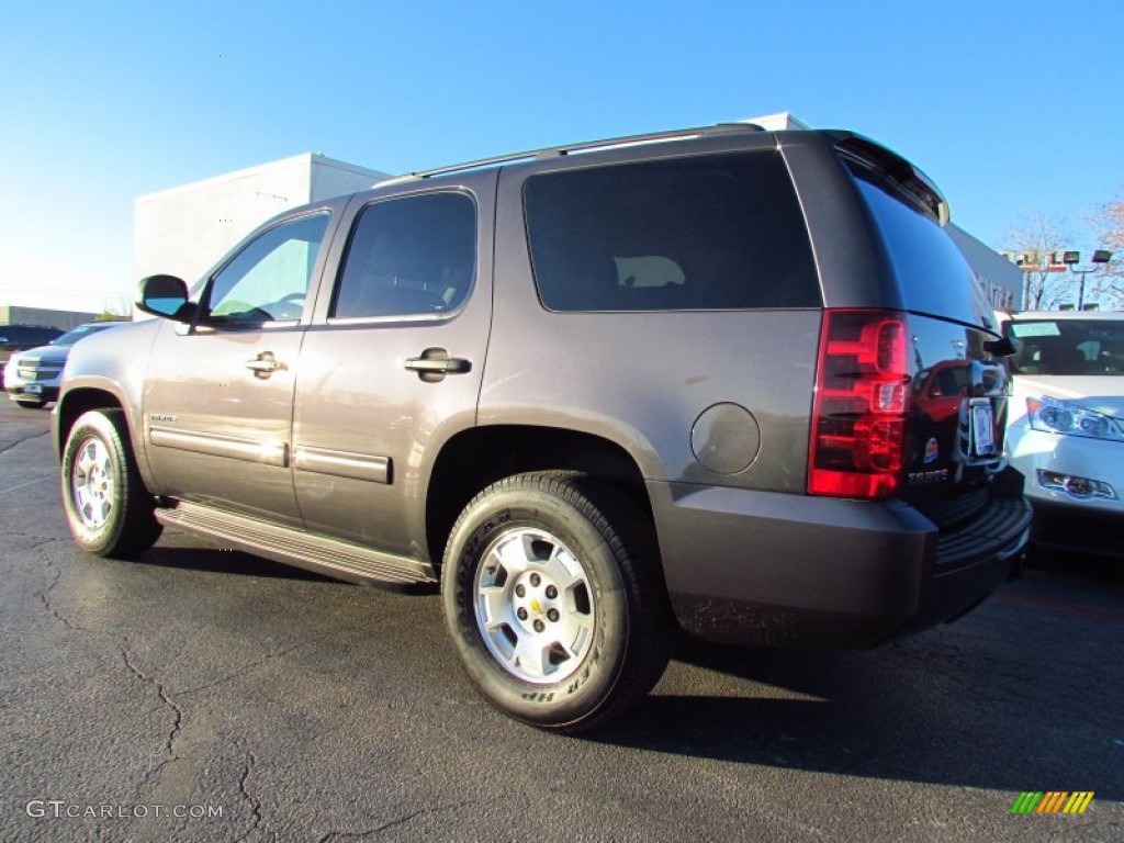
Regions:
M 133 199 L 302 152 L 405 172 L 791 111 L 1003 247 L 1124 194 L 1120 0 L 17 2 L 0 303 L 132 297 Z

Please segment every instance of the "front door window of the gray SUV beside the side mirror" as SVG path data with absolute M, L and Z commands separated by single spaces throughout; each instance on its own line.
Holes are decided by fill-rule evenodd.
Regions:
M 208 321 L 253 324 L 300 319 L 327 214 L 299 217 L 250 242 L 215 275 L 206 293 Z

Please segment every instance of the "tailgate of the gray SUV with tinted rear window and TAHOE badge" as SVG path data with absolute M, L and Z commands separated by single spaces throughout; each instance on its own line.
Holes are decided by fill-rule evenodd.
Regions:
M 912 398 L 901 496 L 939 525 L 955 524 L 986 507 L 1001 466 L 1008 388 L 985 347 L 997 338 L 990 306 L 923 175 L 896 157 L 847 164 L 907 310 Z

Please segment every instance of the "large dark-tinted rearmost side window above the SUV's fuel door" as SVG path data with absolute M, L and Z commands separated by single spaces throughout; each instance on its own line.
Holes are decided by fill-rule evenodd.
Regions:
M 822 302 L 780 154 L 545 173 L 524 205 L 551 310 L 729 310 Z

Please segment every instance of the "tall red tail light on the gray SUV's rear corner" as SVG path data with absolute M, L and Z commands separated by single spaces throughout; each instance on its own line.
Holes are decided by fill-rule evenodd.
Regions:
M 825 310 L 808 493 L 888 498 L 901 475 L 909 371 L 904 314 Z

